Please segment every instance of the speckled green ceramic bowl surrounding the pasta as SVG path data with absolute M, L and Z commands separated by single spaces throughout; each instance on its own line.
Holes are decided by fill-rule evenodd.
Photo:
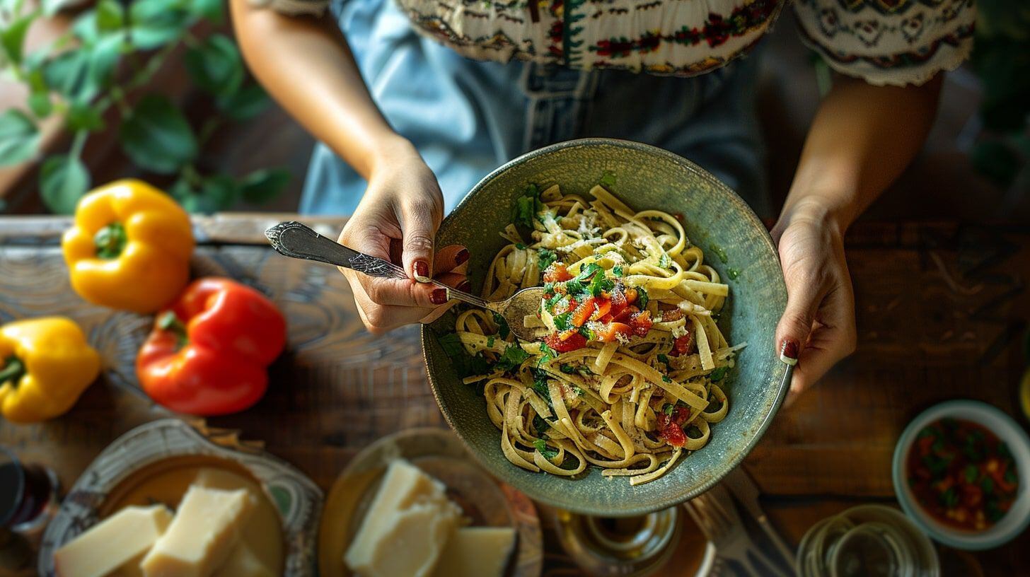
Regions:
M 561 142 L 502 166 L 444 219 L 437 242 L 469 247 L 469 278 L 478 293 L 490 261 L 507 243 L 497 233 L 509 223 L 512 202 L 526 184 L 546 189 L 557 183 L 563 193 L 586 194 L 606 172 L 615 175 L 609 189 L 631 208 L 683 214 L 688 238 L 729 282 L 730 299 L 719 325 L 729 342 L 748 346 L 728 373 L 729 412 L 713 427 L 707 446 L 663 477 L 636 487 L 626 477 L 606 479 L 598 469 L 572 479 L 525 471 L 505 459 L 501 432 L 486 415 L 482 394 L 461 383 L 438 342 L 453 331 L 453 314 L 422 328 L 422 349 L 440 410 L 490 473 L 553 507 L 623 516 L 671 507 L 703 493 L 758 442 L 789 387 L 787 367 L 774 346 L 787 291 L 765 227 L 736 194 L 672 152 L 622 140 Z

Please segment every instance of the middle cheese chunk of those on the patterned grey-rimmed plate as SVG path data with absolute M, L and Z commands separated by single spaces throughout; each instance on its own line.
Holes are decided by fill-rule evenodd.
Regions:
M 253 510 L 246 489 L 191 485 L 168 531 L 143 557 L 146 577 L 208 577 L 239 542 L 240 525 Z

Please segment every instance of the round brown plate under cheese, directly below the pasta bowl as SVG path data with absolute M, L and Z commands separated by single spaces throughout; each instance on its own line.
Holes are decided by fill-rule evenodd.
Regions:
M 543 537 L 533 502 L 499 483 L 470 459 L 445 429 L 409 429 L 384 437 L 359 452 L 340 473 L 325 500 L 318 535 L 321 575 L 353 575 L 343 563 L 390 461 L 405 459 L 447 485 L 476 527 L 512 527 L 518 533 L 506 577 L 538 577 L 543 568 Z

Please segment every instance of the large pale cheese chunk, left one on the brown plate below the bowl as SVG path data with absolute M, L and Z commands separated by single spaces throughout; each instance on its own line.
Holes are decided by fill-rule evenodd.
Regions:
M 394 461 L 344 563 L 362 577 L 426 577 L 460 514 L 440 481 L 405 461 Z

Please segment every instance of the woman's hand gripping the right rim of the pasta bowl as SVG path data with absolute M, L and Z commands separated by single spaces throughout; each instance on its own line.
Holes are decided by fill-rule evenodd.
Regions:
M 789 207 L 771 234 L 787 283 L 777 353 L 797 360 L 789 406 L 855 350 L 855 294 L 842 227 L 822 202 L 806 199 Z

